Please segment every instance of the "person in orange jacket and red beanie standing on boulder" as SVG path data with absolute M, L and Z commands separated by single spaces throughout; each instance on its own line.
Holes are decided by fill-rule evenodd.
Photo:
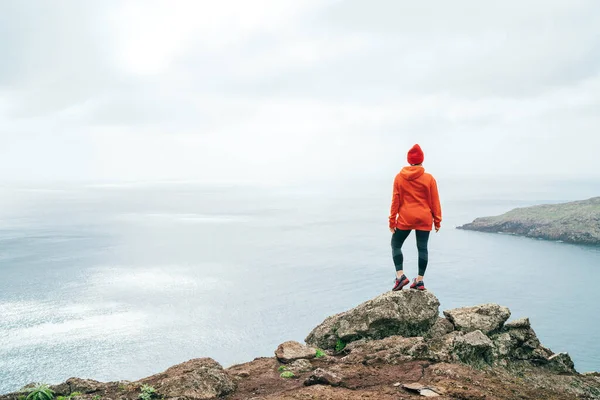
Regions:
M 402 245 L 412 230 L 417 236 L 419 250 L 419 276 L 413 280 L 411 289 L 425 290 L 423 276 L 429 255 L 427 242 L 432 226 L 439 231 L 442 223 L 442 207 L 435 178 L 425 172 L 425 155 L 418 144 L 408 152 L 409 167 L 404 167 L 394 179 L 392 207 L 389 225 L 392 235 L 392 257 L 396 267 L 396 281 L 392 290 L 401 290 L 408 285 L 404 275 Z

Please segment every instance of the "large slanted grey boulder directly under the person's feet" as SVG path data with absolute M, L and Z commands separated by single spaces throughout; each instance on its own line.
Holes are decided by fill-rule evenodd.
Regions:
M 438 318 L 438 299 L 428 291 L 387 292 L 359 306 L 328 317 L 306 338 L 323 349 L 335 348 L 338 340 L 350 343 L 362 338 L 423 336 Z

